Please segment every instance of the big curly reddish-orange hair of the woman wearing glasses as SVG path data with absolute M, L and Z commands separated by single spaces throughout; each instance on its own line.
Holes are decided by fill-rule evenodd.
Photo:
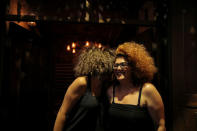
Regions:
M 144 45 L 134 41 L 120 44 L 116 49 L 118 55 L 125 56 L 132 70 L 132 82 L 135 85 L 149 82 L 157 72 L 153 58 Z

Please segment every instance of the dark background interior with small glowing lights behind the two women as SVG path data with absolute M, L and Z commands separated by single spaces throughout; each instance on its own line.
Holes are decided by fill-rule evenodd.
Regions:
M 194 0 L 2 0 L 0 130 L 51 131 L 85 45 L 145 45 L 167 131 L 197 130 Z

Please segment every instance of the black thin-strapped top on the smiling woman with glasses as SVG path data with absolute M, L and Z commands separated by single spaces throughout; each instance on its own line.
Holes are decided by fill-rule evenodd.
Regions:
M 138 96 L 138 104 L 118 104 L 113 100 L 108 109 L 108 131 L 155 131 L 153 120 L 146 107 L 140 106 L 142 88 Z

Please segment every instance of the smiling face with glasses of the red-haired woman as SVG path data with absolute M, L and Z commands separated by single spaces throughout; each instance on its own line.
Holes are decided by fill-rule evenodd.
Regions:
M 124 57 L 117 57 L 113 66 L 114 74 L 118 81 L 130 80 L 131 67 Z

